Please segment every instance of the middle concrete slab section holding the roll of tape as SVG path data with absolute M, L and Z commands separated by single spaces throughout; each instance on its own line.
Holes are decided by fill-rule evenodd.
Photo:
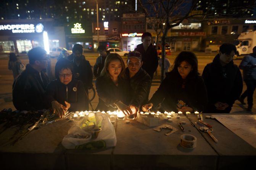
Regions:
M 185 116 L 172 118 L 173 122 L 160 121 L 159 125 L 169 124 L 178 129 L 169 136 L 168 130 L 156 132 L 154 127 L 147 127 L 136 120 L 126 124 L 118 121 L 116 130 L 117 145 L 113 152 L 114 169 L 150 169 L 150 168 L 180 168 L 180 169 L 215 169 L 218 154 L 193 127 Z M 185 132 L 178 127 L 183 125 Z M 191 134 L 197 138 L 194 149 L 180 146 L 180 136 Z

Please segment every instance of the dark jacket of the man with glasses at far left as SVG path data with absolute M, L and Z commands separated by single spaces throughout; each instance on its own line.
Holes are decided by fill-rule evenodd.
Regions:
M 49 79 L 43 71 L 40 74 L 31 65 L 27 64 L 26 70 L 14 80 L 13 105 L 17 110 L 42 110 L 48 108 L 45 101 L 45 89 Z

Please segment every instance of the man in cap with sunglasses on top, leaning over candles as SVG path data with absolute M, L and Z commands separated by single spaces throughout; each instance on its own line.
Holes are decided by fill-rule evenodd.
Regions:
M 151 87 L 151 77 L 143 70 L 143 61 L 140 52 L 130 51 L 128 54 L 125 77 L 129 80 L 132 99 L 130 108 L 137 113 L 139 108 L 148 102 Z

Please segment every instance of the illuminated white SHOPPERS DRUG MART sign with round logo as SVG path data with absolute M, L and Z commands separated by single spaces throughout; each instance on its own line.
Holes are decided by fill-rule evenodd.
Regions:
M 0 25 L 0 30 L 11 30 L 13 33 L 41 33 L 43 32 L 43 24 L 7 24 Z

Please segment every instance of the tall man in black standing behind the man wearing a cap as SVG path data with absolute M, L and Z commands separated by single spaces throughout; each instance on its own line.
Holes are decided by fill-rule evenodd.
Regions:
M 142 44 L 138 44 L 135 51 L 142 55 L 142 68 L 153 79 L 153 75 L 158 67 L 158 55 L 156 49 L 151 44 L 151 33 L 145 32 L 142 34 Z

